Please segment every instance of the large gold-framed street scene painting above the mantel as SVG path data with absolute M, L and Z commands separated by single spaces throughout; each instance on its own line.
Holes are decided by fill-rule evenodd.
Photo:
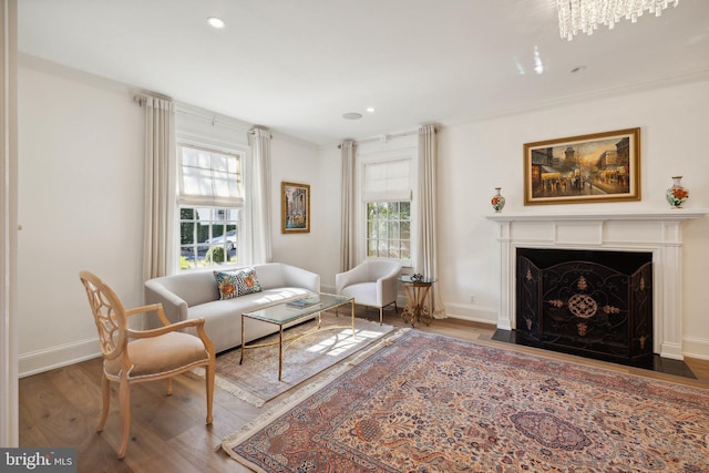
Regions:
M 640 199 L 640 128 L 524 144 L 524 205 Z

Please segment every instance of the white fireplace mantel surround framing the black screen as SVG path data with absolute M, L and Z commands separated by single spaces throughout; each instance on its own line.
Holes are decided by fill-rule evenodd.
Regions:
M 685 220 L 707 209 L 628 213 L 499 213 L 500 307 L 497 328 L 515 329 L 516 248 L 598 249 L 653 253 L 654 351 L 676 360 L 682 356 L 682 234 Z

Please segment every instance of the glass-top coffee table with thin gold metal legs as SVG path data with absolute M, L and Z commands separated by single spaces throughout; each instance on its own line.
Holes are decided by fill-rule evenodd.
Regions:
M 244 312 L 242 313 L 242 358 L 239 360 L 239 364 L 244 361 L 244 351 L 251 348 L 261 348 L 261 347 L 271 347 L 274 345 L 278 345 L 278 381 L 280 381 L 280 374 L 282 371 L 282 360 L 284 360 L 284 343 L 291 343 L 299 338 L 306 337 L 310 333 L 314 333 L 320 330 L 321 325 L 321 312 L 327 309 L 333 309 L 339 306 L 343 306 L 346 304 L 350 304 L 351 311 L 351 325 L 350 326 L 332 326 L 323 328 L 322 330 L 331 330 L 331 329 L 341 329 L 341 328 L 352 328 L 352 337 L 354 337 L 354 299 L 351 297 L 345 296 L 335 296 L 331 294 L 310 294 L 308 296 L 300 297 L 294 300 L 287 300 L 285 302 L 276 304 L 274 306 L 266 307 L 260 310 L 254 310 L 253 312 Z M 298 333 L 294 337 L 284 339 L 284 326 L 296 322 L 298 320 L 302 320 L 312 316 L 314 313 L 318 315 L 318 326 L 311 330 L 308 330 L 302 333 Z M 255 345 L 246 345 L 246 319 L 255 319 L 260 320 L 261 322 L 273 323 L 278 326 L 278 341 L 271 341 L 268 343 L 255 343 Z M 286 348 L 288 348 L 286 346 Z

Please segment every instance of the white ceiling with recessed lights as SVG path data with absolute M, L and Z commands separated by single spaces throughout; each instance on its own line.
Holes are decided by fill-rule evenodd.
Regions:
M 571 42 L 554 0 L 18 4 L 21 53 L 319 145 L 709 78 L 708 0 Z

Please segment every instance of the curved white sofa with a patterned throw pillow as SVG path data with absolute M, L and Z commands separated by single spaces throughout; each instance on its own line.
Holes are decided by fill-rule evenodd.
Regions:
M 204 317 L 207 335 L 219 352 L 242 345 L 243 312 L 320 291 L 320 276 L 306 269 L 281 263 L 249 267 L 256 270 L 263 289 L 259 292 L 220 300 L 214 270 L 233 271 L 243 267 L 219 266 L 150 279 L 145 281 L 145 301 L 161 302 L 171 322 Z M 145 328 L 155 327 L 146 325 Z M 245 340 L 249 342 L 277 330 L 275 325 L 247 319 Z

